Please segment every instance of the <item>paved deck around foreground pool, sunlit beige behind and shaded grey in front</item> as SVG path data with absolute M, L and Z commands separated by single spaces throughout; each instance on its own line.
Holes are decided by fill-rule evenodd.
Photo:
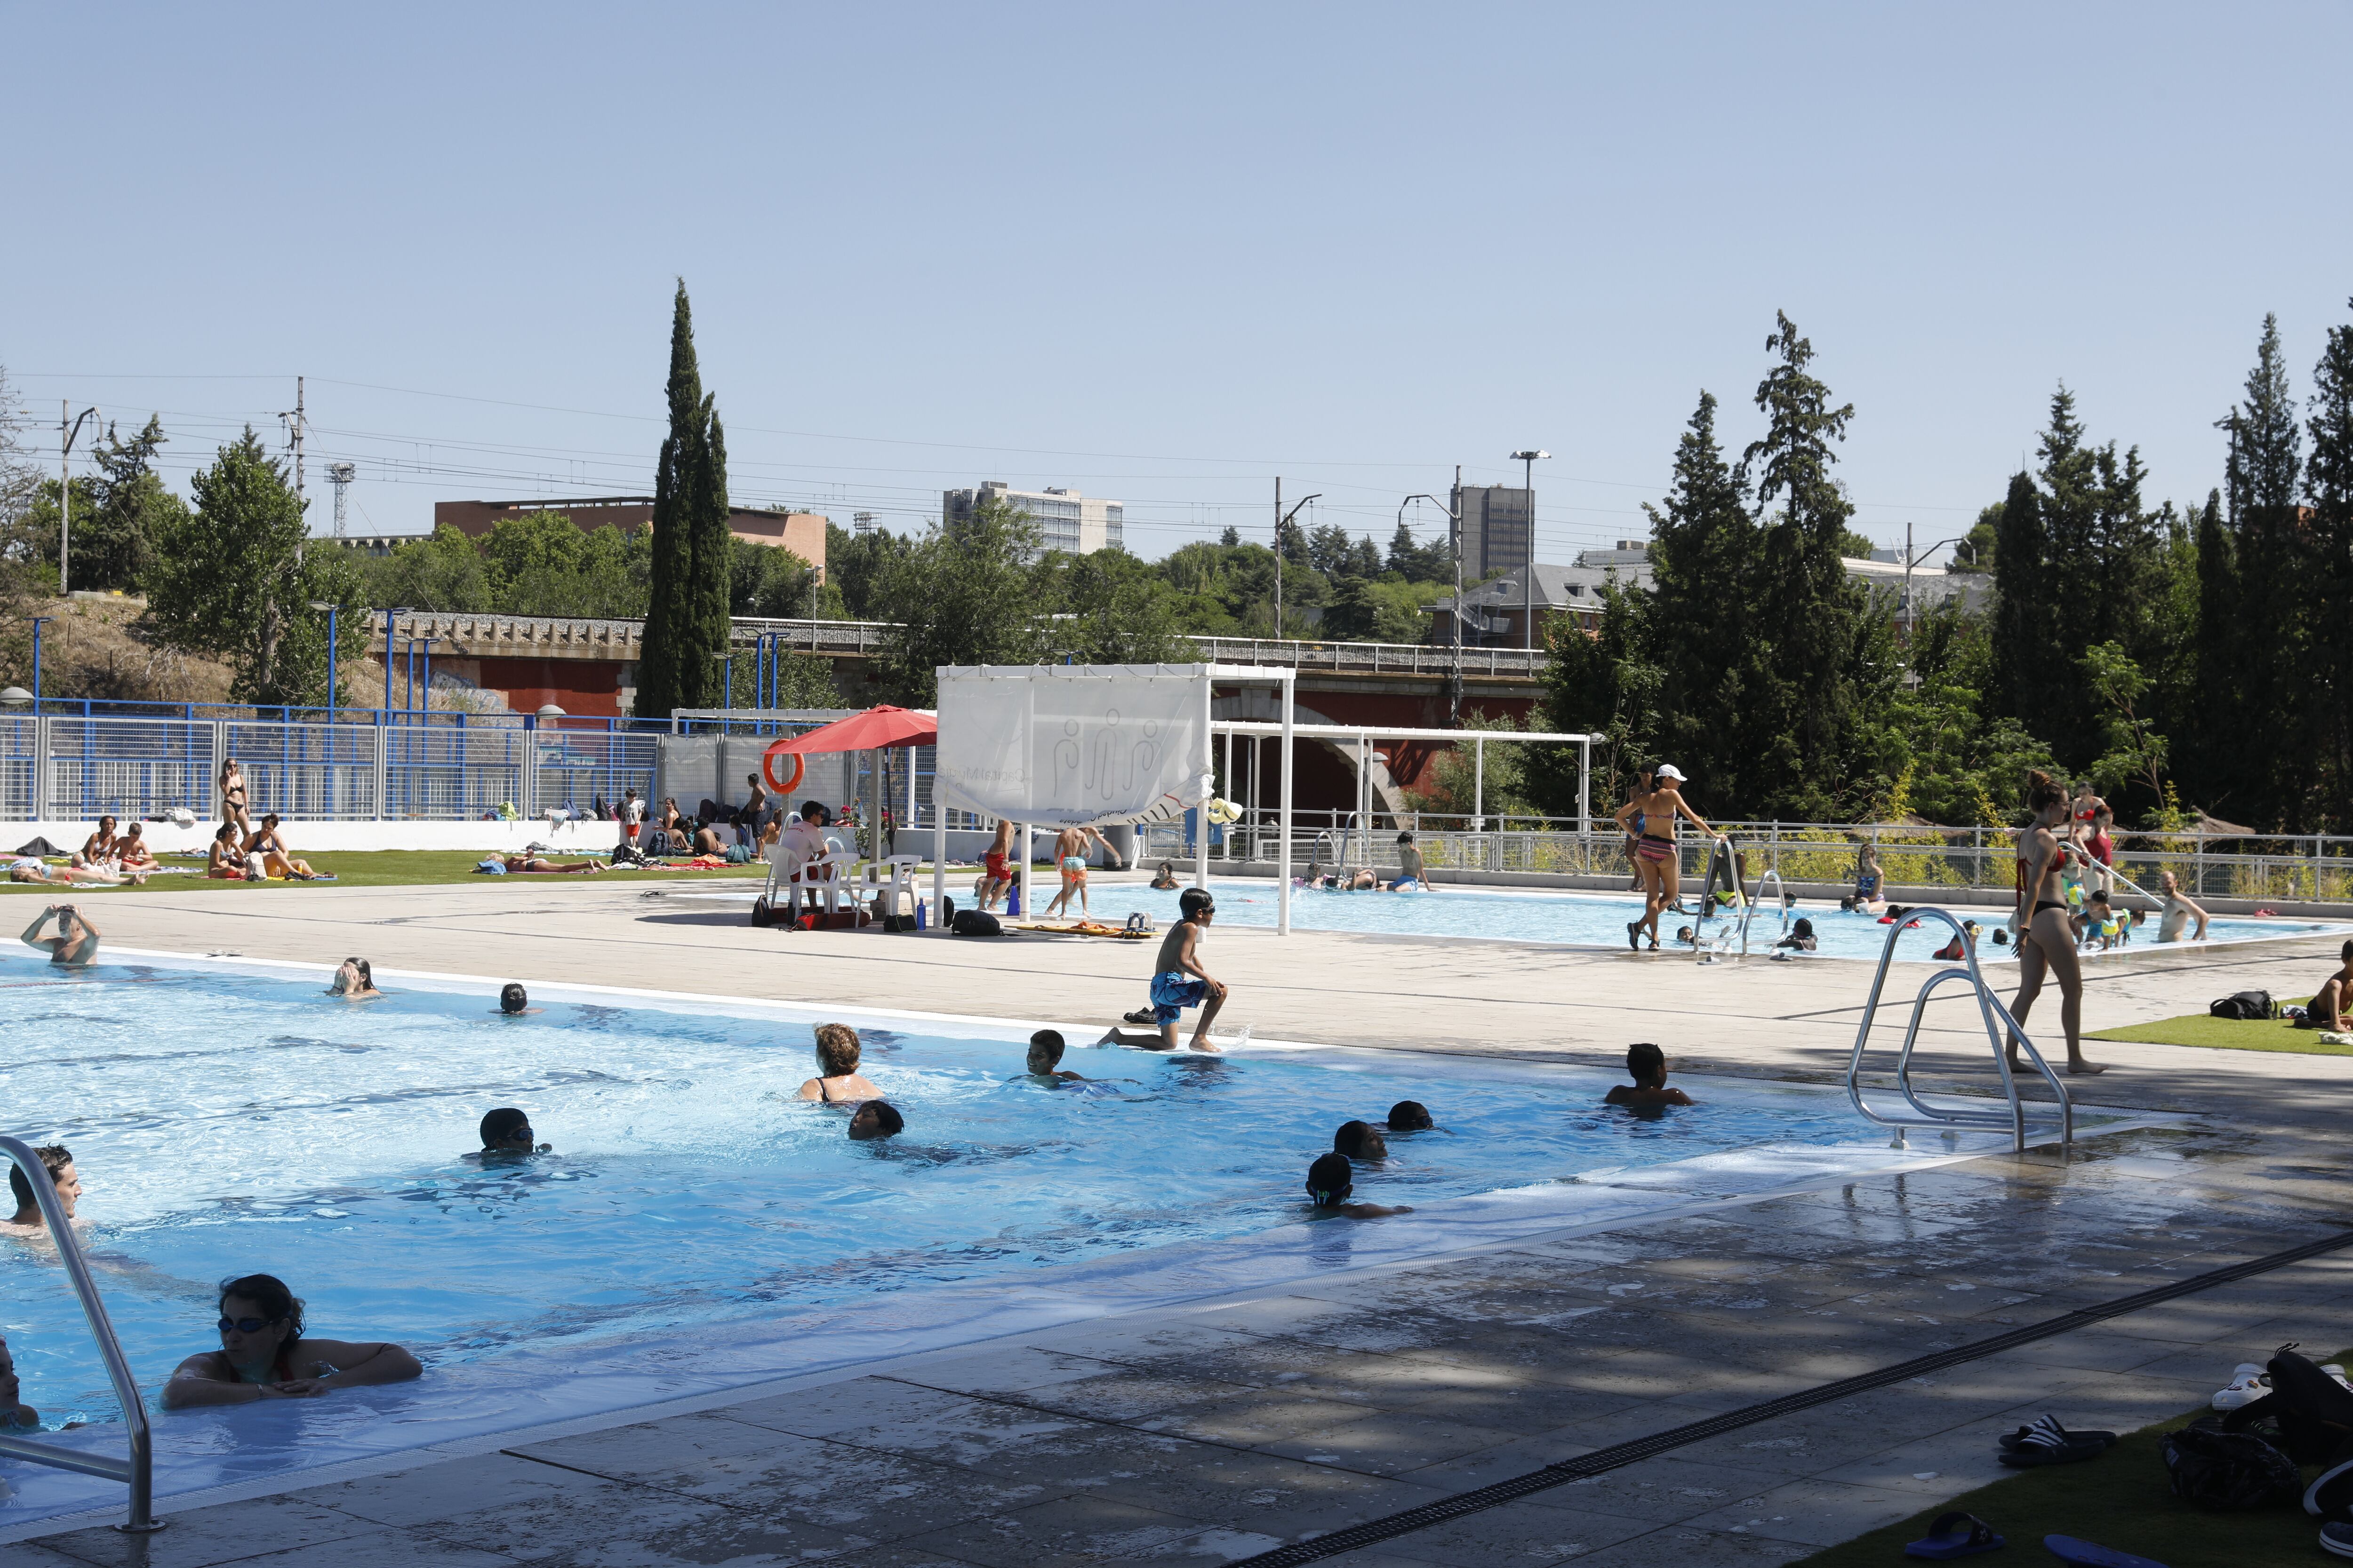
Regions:
M 638 985 L 1101 1025 L 1148 950 L 753 931 L 741 905 L 588 884 L 252 889 L 89 900 L 125 947 Z M 1266 1039 L 1835 1079 L 1871 969 L 1219 931 Z M 2247 987 L 2301 997 L 2332 940 L 2094 959 L 2085 1025 Z M 1899 971 L 1904 973 L 1904 971 Z M 1908 1004 L 1925 969 L 1892 999 Z M 2007 976 L 1998 973 L 2007 992 Z M 1922 1077 L 1984 1088 L 1974 1009 L 1929 1009 Z M 2035 1023 L 2057 1023 L 2057 992 Z M 1889 1032 L 1892 1034 L 1892 1032 Z M 1078 1037 L 1078 1034 L 1073 1034 Z M 12 1563 L 1224 1563 L 1551 1460 L 2129 1295 L 2353 1225 L 2334 1126 L 2353 1058 L 2094 1041 L 2087 1100 L 2198 1119 L 1857 1178 L 1638 1229 L 1318 1276 L 1174 1312 L 746 1389 L 645 1420 L 9 1547 Z M 1431 1100 L 1442 1117 L 1442 1063 Z M 2057 1410 L 2129 1427 L 2285 1340 L 2353 1345 L 2353 1255 L 1972 1361 L 1327 1559 L 1784 1563 L 1998 1474 Z M 153 1368 L 144 1368 L 153 1375 Z M 169 1441 L 165 1422 L 165 1441 Z M 167 1505 L 172 1509 L 172 1505 Z M 5 1530 L 5 1507 L 0 1507 Z

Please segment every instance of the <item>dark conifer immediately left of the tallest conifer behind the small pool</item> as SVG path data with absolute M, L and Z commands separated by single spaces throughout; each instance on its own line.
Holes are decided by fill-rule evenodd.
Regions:
M 1746 799 L 1751 696 L 1769 684 L 1753 616 L 1762 531 L 1748 491 L 1715 440 L 1715 395 L 1675 447 L 1666 505 L 1647 505 L 1652 614 L 1659 665 L 1659 745 L 1706 780 L 1708 799 Z

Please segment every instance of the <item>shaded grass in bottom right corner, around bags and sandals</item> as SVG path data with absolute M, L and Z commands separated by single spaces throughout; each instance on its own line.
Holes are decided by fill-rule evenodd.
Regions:
M 2344 1361 L 2353 1352 L 2337 1352 L 2327 1361 Z M 2214 1387 L 2226 1373 L 2217 1371 Z M 2266 1509 L 2259 1514 L 2207 1514 L 2188 1502 L 2177 1502 L 2165 1483 L 2165 1460 L 2158 1458 L 2158 1439 L 2191 1425 L 2212 1410 L 2188 1410 L 2174 1420 L 2162 1420 L 2139 1432 L 2127 1432 L 2122 1441 L 2097 1460 L 2080 1465 L 2052 1465 L 2047 1469 L 2021 1469 L 2014 1476 L 1979 1486 L 1951 1502 L 1913 1514 L 1904 1523 L 1892 1523 L 1871 1535 L 1800 1559 L 1798 1568 L 1885 1568 L 1908 1563 L 1904 1542 L 1927 1535 L 1927 1526 L 1948 1509 L 1977 1514 L 1995 1535 L 2009 1544 L 2002 1552 L 1962 1559 L 1972 1563 L 2002 1563 L 2017 1556 L 2028 1563 L 2054 1561 L 2042 1549 L 2045 1535 L 2073 1535 L 2118 1552 L 2139 1552 L 2165 1563 L 2165 1568 L 2261 1568 L 2264 1563 L 2313 1563 L 2329 1561 L 2320 1549 L 2320 1521 L 2299 1507 Z M 2304 1479 L 2320 1474 L 2311 1465 Z

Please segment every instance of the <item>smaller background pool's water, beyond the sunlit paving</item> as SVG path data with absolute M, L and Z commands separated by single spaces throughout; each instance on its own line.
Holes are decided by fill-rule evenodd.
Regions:
M 1054 896 L 1056 879 L 1038 872 L 1038 907 Z M 951 886 L 958 905 L 965 903 L 969 877 Z M 1221 926 L 1273 926 L 1275 886 L 1264 879 L 1212 877 L 1217 893 L 1217 919 Z M 1685 891 L 1685 903 L 1699 905 L 1697 879 Z M 1176 893 L 1155 893 L 1141 882 L 1104 882 L 1089 889 L 1089 905 L 1096 919 L 1122 922 L 1132 910 L 1141 910 L 1162 926 L 1176 919 Z M 1986 929 L 1979 945 L 1981 961 L 2007 959 L 2009 952 L 1991 943 L 1993 929 L 2009 922 L 2009 910 L 1955 907 L 1962 919 L 1974 919 Z M 1292 889 L 1292 926 L 1301 931 L 1377 931 L 1391 936 L 1457 936 L 1506 943 L 1560 943 L 1569 947 L 1624 947 L 1626 922 L 1640 919 L 1642 900 L 1633 896 L 1598 893 L 1489 893 L 1445 889 L 1435 893 L 1334 893 L 1325 889 Z M 1875 914 L 1847 914 L 1838 905 L 1809 903 L 1793 910 L 1795 917 L 1814 922 L 1817 952 L 1805 957 L 1831 959 L 1878 959 L 1887 945 L 1887 926 Z M 1689 926 L 1689 914 L 1659 917 L 1659 950 L 1675 940 L 1678 926 Z M 1713 943 L 1729 929 L 1725 919 L 1708 922 Z M 2217 919 L 2207 926 L 2209 943 L 2249 943 L 2282 936 L 2353 933 L 2348 924 L 2315 919 Z M 1748 926 L 1748 952 L 1765 954 L 1781 938 L 1781 910 L 1760 907 Z M 1645 938 L 1647 940 L 1647 938 Z M 1953 940 L 1944 924 L 1922 924 L 1906 931 L 1897 945 L 1899 959 L 1927 961 L 1937 947 Z M 2137 931 L 2132 947 L 2122 952 L 2155 947 L 2155 926 Z M 1734 950 L 1739 940 L 1734 938 Z M 1689 952 L 1689 947 L 1685 947 Z M 2094 947 L 2087 957 L 2099 957 Z

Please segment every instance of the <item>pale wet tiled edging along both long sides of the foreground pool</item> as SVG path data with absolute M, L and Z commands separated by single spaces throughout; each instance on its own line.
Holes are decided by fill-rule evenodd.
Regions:
M 129 954 L 125 954 L 129 957 Z M 318 964 L 268 959 L 188 959 L 144 952 L 146 959 L 179 959 L 191 969 L 242 969 L 247 973 L 325 973 Z M 393 971 L 386 971 L 393 978 Z M 409 983 L 424 976 L 402 973 Z M 478 992 L 475 976 L 442 976 L 440 985 Z M 440 985 L 426 985 L 440 990 Z M 631 997 L 661 1006 L 680 999 L 704 1011 L 741 1018 L 807 1016 L 807 1004 L 746 1001 L 694 992 L 645 992 L 602 985 L 534 983 L 548 999 L 574 994 Z M 899 1009 L 833 1009 L 845 1016 L 936 1018 Z M 962 1020 L 991 1037 L 1019 1037 L 1021 1025 Z M 1367 1060 L 1379 1053 L 1351 1046 L 1282 1046 L 1285 1056 L 1325 1053 L 1334 1060 Z M 1464 1067 L 1473 1070 L 1473 1067 Z M 1475 1072 L 1501 1079 L 1598 1077 L 1591 1067 L 1551 1063 L 1504 1063 L 1480 1058 Z M 1819 1100 L 1835 1088 L 1715 1079 L 1727 1093 Z M 2181 1121 L 2169 1114 L 2104 1119 L 2092 1110 L 2085 1135 Z M 1864 1128 L 1859 1128 L 1864 1131 Z M 1878 1138 L 1875 1131 L 1868 1133 Z M 341 1467 L 400 1469 L 456 1448 L 496 1448 L 520 1432 L 546 1427 L 595 1429 L 642 1420 L 647 1408 L 680 1401 L 704 1408 L 751 1396 L 751 1389 L 854 1375 L 906 1356 L 951 1352 L 1007 1335 L 1035 1335 L 1056 1326 L 1125 1314 L 1151 1314 L 1264 1293 L 1301 1279 L 1358 1269 L 1395 1269 L 1445 1255 L 1525 1244 L 1548 1234 L 1612 1229 L 1652 1222 L 1671 1213 L 1701 1213 L 1729 1204 L 1753 1204 L 1777 1194 L 1838 1185 L 1859 1175 L 1922 1171 L 2007 1147 L 2000 1135 L 1972 1135 L 1939 1150 L 1887 1150 L 1875 1143 L 1777 1143 L 1718 1150 L 1697 1159 L 1591 1171 L 1577 1180 L 1489 1190 L 1438 1199 L 1414 1215 L 1355 1222 L 1280 1222 L 1231 1239 L 1188 1239 L 1139 1248 L 1113 1260 L 1031 1269 L 953 1291 L 908 1291 L 847 1302 L 814 1305 L 769 1319 L 701 1324 L 685 1333 L 612 1335 L 565 1345 L 553 1352 L 513 1352 L 494 1361 L 445 1366 L 419 1385 L 353 1389 L 327 1401 L 247 1406 L 233 1410 L 172 1413 L 158 1420 L 158 1495 L 179 1507 L 221 1488 L 259 1493 L 308 1486 Z M 148 1368 L 158 1373 L 160 1368 Z M 94 1427 L 59 1439 L 68 1446 L 120 1450 L 120 1427 Z M 115 1507 L 120 1490 L 61 1472 L 9 1465 L 19 1493 L 0 1505 L 0 1540 L 19 1540 L 56 1528 L 68 1514 Z

